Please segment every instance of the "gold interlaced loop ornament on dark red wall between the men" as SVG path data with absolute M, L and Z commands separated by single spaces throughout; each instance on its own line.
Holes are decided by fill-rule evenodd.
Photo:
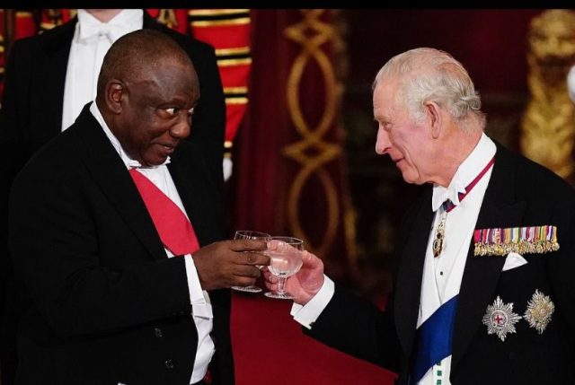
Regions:
M 288 190 L 288 223 L 296 237 L 305 239 L 309 249 L 320 257 L 330 250 L 340 230 L 346 238 L 350 258 L 355 258 L 355 228 L 350 225 L 355 214 L 348 197 L 345 194 L 340 197 L 336 182 L 326 169 L 330 163 L 341 161 L 341 144 L 324 137 L 330 130 L 339 127 L 336 111 L 341 104 L 342 85 L 338 82 L 332 56 L 343 43 L 333 23 L 322 20 L 325 16 L 334 16 L 334 10 L 305 9 L 299 12 L 302 20 L 289 25 L 284 31 L 285 36 L 293 40 L 298 49 L 289 69 L 287 101 L 289 117 L 297 134 L 301 136 L 295 143 L 288 144 L 282 152 L 301 166 Z M 302 81 L 310 66 L 316 66 L 323 77 L 323 92 L 318 92 L 318 95 L 324 97 L 320 118 L 306 116 L 306 109 L 301 102 L 302 90 L 312 91 Z M 321 105 L 321 101 L 318 104 Z M 323 235 L 316 242 L 309 241 L 298 210 L 300 201 L 305 198 L 303 189 L 312 179 L 318 181 L 323 188 L 327 206 Z

